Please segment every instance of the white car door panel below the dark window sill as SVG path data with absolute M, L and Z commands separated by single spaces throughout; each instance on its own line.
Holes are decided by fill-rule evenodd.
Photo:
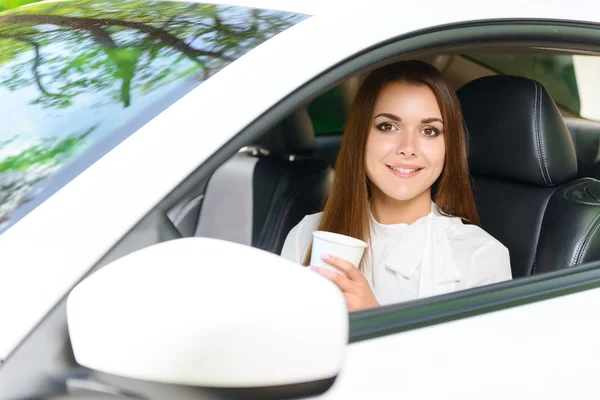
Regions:
M 596 398 L 599 299 L 587 290 L 354 343 L 315 398 Z

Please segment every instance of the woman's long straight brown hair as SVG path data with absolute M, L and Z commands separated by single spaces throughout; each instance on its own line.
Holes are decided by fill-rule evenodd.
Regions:
M 479 225 L 479 214 L 468 166 L 468 141 L 456 93 L 433 66 L 417 60 L 401 61 L 371 72 L 361 85 L 346 121 L 344 137 L 335 164 L 335 179 L 318 230 L 341 233 L 370 243 L 369 179 L 365 170 L 365 148 L 375 101 L 390 82 L 428 86 L 438 101 L 444 120 L 446 157 L 432 193 L 440 211 Z M 304 264 L 310 261 L 309 248 Z M 364 260 L 364 259 L 363 259 Z M 364 262 L 360 269 L 364 272 Z

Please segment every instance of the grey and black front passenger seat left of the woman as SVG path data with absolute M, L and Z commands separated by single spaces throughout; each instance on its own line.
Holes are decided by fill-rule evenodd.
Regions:
M 306 111 L 283 119 L 215 171 L 193 234 L 279 254 L 288 232 L 329 195 L 333 169 L 314 152 Z

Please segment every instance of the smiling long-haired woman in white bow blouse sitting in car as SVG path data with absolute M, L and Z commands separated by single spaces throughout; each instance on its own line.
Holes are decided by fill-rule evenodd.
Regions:
M 350 311 L 511 279 L 508 250 L 481 229 L 456 94 L 438 70 L 403 61 L 372 72 L 350 110 L 323 213 L 289 233 L 282 256 L 308 265 L 311 234 L 370 244 L 358 269 L 312 267 Z M 314 258 L 314 257 L 313 257 Z

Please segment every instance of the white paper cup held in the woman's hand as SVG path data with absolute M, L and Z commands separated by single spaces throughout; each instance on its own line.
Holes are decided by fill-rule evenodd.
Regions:
M 337 268 L 325 263 L 321 256 L 330 254 L 349 261 L 352 265 L 358 267 L 366 248 L 367 243 L 350 236 L 326 231 L 314 231 L 310 265 L 341 273 Z

